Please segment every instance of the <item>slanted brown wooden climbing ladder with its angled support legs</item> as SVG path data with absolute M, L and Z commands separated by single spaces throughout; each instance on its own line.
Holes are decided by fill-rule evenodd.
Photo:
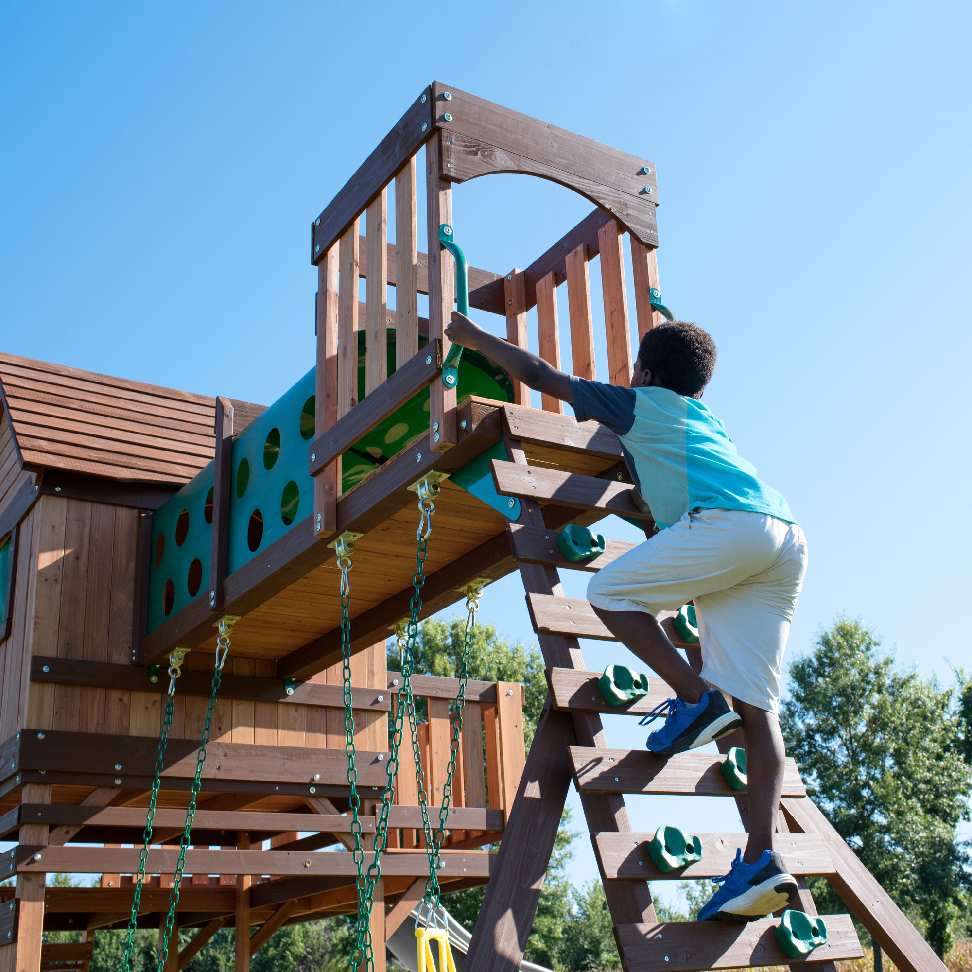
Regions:
M 530 467 L 523 445 L 506 430 L 508 463 L 495 461 L 500 493 L 518 497 L 523 512 L 509 525 L 509 538 L 527 595 L 534 630 L 547 667 L 549 693 L 527 758 L 496 864 L 476 922 L 464 972 L 513 972 L 520 966 L 533 924 L 543 876 L 561 812 L 573 780 L 587 819 L 604 882 L 618 952 L 626 972 L 786 965 L 814 965 L 834 972 L 836 960 L 863 955 L 849 915 L 827 916 L 828 942 L 807 962 L 793 963 L 774 934 L 779 918 L 748 923 L 659 922 L 647 882 L 710 878 L 726 874 L 739 834 L 701 834 L 702 860 L 665 874 L 653 864 L 647 843 L 654 828 L 672 820 L 652 820 L 633 830 L 625 793 L 682 796 L 735 796 L 746 821 L 745 795 L 722 776 L 721 755 L 686 752 L 664 758 L 645 750 L 607 745 L 602 712 L 642 715 L 675 693 L 651 677 L 649 697 L 611 708 L 597 686 L 600 673 L 584 668 L 578 638 L 612 640 L 588 602 L 564 596 L 560 568 L 593 572 L 635 544 L 608 540 L 606 552 L 589 564 L 572 564 L 557 546 L 558 531 L 544 522 L 540 503 L 572 522 L 592 523 L 608 512 L 648 519 L 632 503 L 630 484 L 554 469 Z M 553 516 L 550 516 L 553 519 Z M 677 646 L 681 642 L 663 620 Z M 723 746 L 727 749 L 728 746 Z M 829 821 L 807 796 L 799 770 L 786 761 L 775 849 L 800 891 L 792 907 L 816 915 L 806 879 L 820 875 L 834 887 L 902 972 L 943 972 L 945 965 L 870 875 Z M 713 885 L 714 887 L 714 885 Z

